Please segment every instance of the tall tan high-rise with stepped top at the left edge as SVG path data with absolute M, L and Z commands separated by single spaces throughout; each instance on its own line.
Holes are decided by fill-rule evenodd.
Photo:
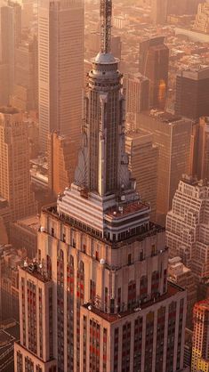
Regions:
M 13 108 L 0 109 L 0 200 L 5 222 L 36 213 L 30 189 L 28 129 Z

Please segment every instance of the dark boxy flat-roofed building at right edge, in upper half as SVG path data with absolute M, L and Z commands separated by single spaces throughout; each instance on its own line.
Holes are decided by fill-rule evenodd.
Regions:
M 209 68 L 182 70 L 176 77 L 175 112 L 197 120 L 209 116 Z

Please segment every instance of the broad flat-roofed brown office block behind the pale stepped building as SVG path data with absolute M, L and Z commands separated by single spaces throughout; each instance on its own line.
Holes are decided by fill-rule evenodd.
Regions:
M 165 224 L 181 176 L 190 171 L 192 121 L 151 110 L 139 115 L 138 127 L 153 133 L 153 143 L 159 150 L 157 222 Z

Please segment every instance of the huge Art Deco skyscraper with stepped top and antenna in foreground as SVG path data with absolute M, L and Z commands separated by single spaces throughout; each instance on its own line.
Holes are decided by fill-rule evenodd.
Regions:
M 129 175 L 111 1 L 100 1 L 100 18 L 76 179 L 43 210 L 38 264 L 20 269 L 15 371 L 183 368 L 186 293 L 167 283 L 165 231 L 149 222 Z

